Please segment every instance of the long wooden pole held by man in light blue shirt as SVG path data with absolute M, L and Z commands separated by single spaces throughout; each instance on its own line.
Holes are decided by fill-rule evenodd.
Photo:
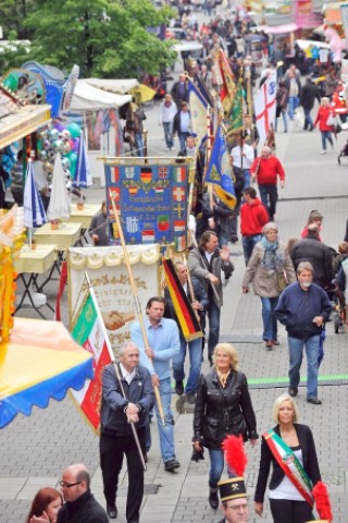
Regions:
M 127 267 L 129 283 L 130 283 L 130 287 L 132 287 L 135 311 L 137 313 L 137 317 L 138 317 L 139 324 L 140 324 L 145 349 L 147 350 L 147 349 L 150 349 L 150 345 L 149 345 L 148 337 L 147 337 L 146 329 L 145 329 L 144 318 L 142 318 L 142 315 L 141 315 L 140 303 L 139 303 L 139 297 L 138 297 L 138 293 L 137 293 L 137 287 L 136 287 L 134 276 L 133 276 L 133 272 L 132 272 L 132 268 L 130 268 L 129 256 L 128 256 L 128 252 L 127 252 L 127 247 L 126 247 L 126 242 L 124 240 L 124 234 L 123 234 L 123 229 L 122 229 L 122 226 L 121 226 L 119 210 L 116 209 L 115 203 L 113 200 L 111 190 L 109 190 L 109 197 L 110 197 L 110 200 L 111 200 L 113 215 L 115 217 L 116 224 L 117 224 L 117 231 L 119 231 L 119 235 L 120 235 L 120 240 L 121 240 L 124 260 L 125 260 L 125 264 L 126 264 L 126 267 Z M 158 405 L 158 409 L 159 409 L 159 414 L 160 414 L 160 417 L 161 417 L 161 421 L 162 421 L 162 425 L 165 426 L 164 411 L 163 411 L 161 397 L 160 397 L 160 391 L 159 391 L 158 386 L 153 386 L 153 391 L 154 391 L 157 405 Z

